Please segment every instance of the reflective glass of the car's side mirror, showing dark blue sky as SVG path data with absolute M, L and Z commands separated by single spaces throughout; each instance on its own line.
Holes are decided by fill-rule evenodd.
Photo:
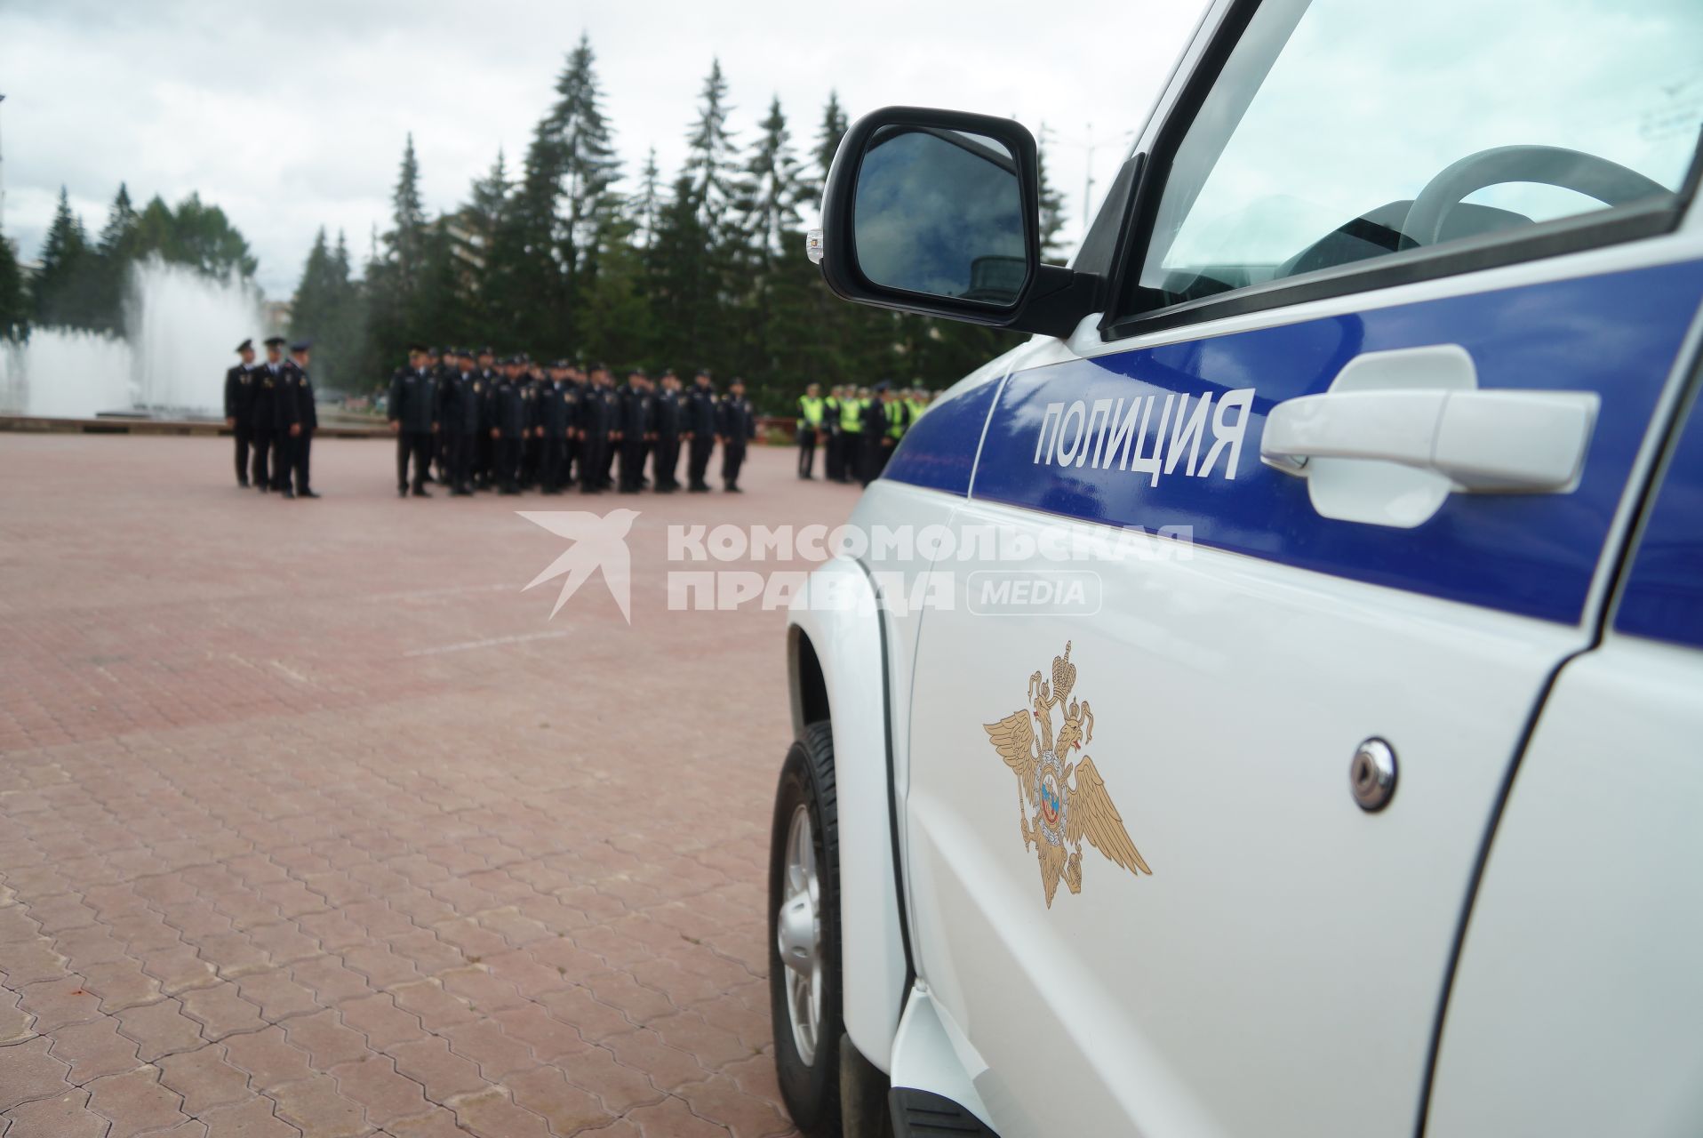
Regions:
M 1010 305 L 1029 283 L 1017 162 L 983 135 L 877 131 L 852 225 L 858 267 L 884 288 Z

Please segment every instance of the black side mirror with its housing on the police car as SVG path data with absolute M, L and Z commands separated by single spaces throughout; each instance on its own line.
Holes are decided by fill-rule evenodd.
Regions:
M 840 141 L 807 249 L 845 300 L 1068 336 L 1097 281 L 1041 264 L 1039 181 L 1013 119 L 886 107 Z

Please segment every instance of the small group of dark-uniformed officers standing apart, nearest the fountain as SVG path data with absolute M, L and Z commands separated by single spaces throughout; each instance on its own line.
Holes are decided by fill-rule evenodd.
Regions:
M 237 344 L 242 363 L 225 371 L 225 426 L 237 436 L 237 486 L 290 499 L 318 497 L 310 479 L 318 428 L 310 349 L 308 341 L 296 341 L 284 359 L 284 337 L 272 336 L 266 339 L 266 359 L 255 361 L 252 339 Z

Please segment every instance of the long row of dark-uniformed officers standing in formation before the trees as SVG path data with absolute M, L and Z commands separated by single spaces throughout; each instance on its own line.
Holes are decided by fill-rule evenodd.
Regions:
M 685 489 L 705 492 L 717 443 L 722 489 L 739 494 L 756 438 L 756 411 L 737 378 L 719 395 L 707 368 L 690 387 L 673 370 L 652 376 L 627 368 L 616 385 L 601 363 L 545 365 L 525 353 L 499 363 L 490 348 L 410 348 L 407 366 L 390 376 L 387 414 L 397 433 L 397 494 L 416 497 L 431 497 L 427 482 L 460 497 L 485 489 L 560 494 L 576 484 L 582 494 L 668 494 L 681 489 L 681 451 Z

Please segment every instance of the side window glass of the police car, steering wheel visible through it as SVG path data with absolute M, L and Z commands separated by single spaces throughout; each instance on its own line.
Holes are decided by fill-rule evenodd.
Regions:
M 1700 0 L 1267 0 L 1173 155 L 1143 307 L 1671 203 L 1700 124 Z

